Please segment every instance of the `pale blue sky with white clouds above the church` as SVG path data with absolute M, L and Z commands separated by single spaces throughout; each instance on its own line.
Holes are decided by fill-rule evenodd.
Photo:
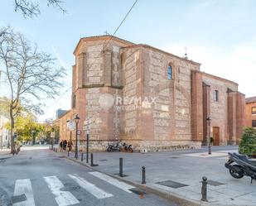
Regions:
M 44 99 L 43 121 L 58 108 L 70 108 L 73 51 L 80 37 L 113 34 L 134 0 L 64 0 L 67 13 L 41 3 L 41 15 L 23 18 L 14 0 L 1 0 L 0 26 L 12 26 L 67 70 L 56 99 Z M 201 64 L 200 70 L 239 84 L 246 97 L 256 96 L 256 1 L 138 0 L 116 36 L 148 44 Z M 8 95 L 0 79 L 0 95 Z

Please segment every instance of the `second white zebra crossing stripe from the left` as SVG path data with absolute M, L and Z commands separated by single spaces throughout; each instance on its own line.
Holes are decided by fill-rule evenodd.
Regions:
M 49 189 L 51 189 L 52 194 L 56 196 L 56 202 L 58 205 L 66 206 L 80 204 L 80 201 L 69 191 L 60 191 L 61 188 L 64 188 L 64 185 L 56 176 L 47 176 L 44 177 L 44 179 L 48 184 Z

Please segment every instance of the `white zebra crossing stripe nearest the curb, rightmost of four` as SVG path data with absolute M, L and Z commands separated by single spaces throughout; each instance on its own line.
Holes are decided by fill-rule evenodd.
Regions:
M 104 180 L 104 181 L 108 182 L 109 184 L 113 184 L 114 186 L 118 187 L 119 189 L 123 189 L 123 191 L 125 191 L 127 193 L 133 193 L 129 189 L 135 188 L 133 185 L 126 184 L 124 182 L 114 179 L 113 177 L 110 177 L 109 175 L 105 175 L 98 171 L 89 172 L 89 174 L 94 175 L 95 177 L 98 177 L 100 180 Z

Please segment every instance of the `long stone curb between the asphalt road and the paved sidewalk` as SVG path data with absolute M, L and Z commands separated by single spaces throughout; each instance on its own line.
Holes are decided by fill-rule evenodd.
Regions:
M 188 200 L 188 199 L 184 199 L 183 197 L 177 195 L 177 194 L 173 194 L 173 193 L 167 193 L 165 191 L 162 191 L 160 189 L 154 189 L 152 187 L 149 187 L 145 184 L 138 184 L 136 182 L 133 182 L 131 180 L 125 180 L 121 177 L 118 177 L 117 175 L 112 175 L 112 174 L 108 174 L 106 172 L 103 172 L 101 170 L 97 170 L 95 169 L 95 167 L 92 167 L 90 166 L 89 164 L 87 163 L 84 163 L 84 162 L 81 162 L 80 160 L 74 160 L 74 159 L 71 159 L 69 158 L 68 156 L 62 156 L 63 158 L 65 158 L 66 160 L 70 160 L 70 161 L 73 161 L 79 165 L 84 165 L 86 166 L 87 168 L 89 168 L 90 170 L 94 170 L 94 171 L 99 171 L 101 173 L 104 173 L 105 175 L 109 175 L 115 179 L 118 179 L 118 180 L 121 180 L 127 184 L 132 184 L 133 186 L 137 187 L 138 189 L 142 189 L 144 190 L 145 192 L 147 193 L 151 193 L 151 194 L 156 194 L 157 196 L 160 196 L 164 199 L 168 199 L 168 200 L 171 200 L 173 202 L 175 202 L 176 204 L 179 204 L 180 206 L 202 206 L 202 205 L 206 205 L 204 203 L 198 203 L 196 201 L 193 201 L 193 200 Z

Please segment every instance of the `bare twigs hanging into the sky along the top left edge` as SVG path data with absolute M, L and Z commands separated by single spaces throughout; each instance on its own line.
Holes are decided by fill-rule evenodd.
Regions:
M 46 0 L 48 7 L 56 7 L 65 13 L 65 9 L 61 7 L 61 0 Z M 37 17 L 40 15 L 40 4 L 34 0 L 14 0 L 15 12 L 22 12 L 24 17 Z

